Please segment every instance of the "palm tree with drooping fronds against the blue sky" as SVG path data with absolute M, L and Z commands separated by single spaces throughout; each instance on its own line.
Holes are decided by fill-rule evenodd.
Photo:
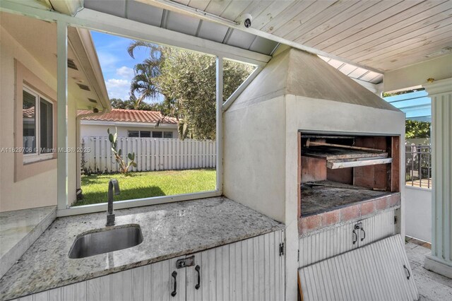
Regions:
M 136 109 L 143 100 L 146 98 L 155 99 L 160 93 L 155 83 L 155 78 L 160 75 L 160 64 L 162 64 L 162 52 L 159 46 L 143 41 L 132 42 L 127 49 L 132 58 L 135 58 L 133 51 L 137 47 L 149 49 L 150 55 L 148 59 L 145 59 L 141 64 L 136 64 L 134 67 L 135 75 L 131 81 L 130 93 L 131 95 L 138 93 L 138 98 L 135 101 Z

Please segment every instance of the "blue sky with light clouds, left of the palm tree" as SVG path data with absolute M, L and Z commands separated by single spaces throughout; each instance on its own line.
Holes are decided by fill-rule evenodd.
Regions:
M 127 47 L 133 40 L 95 31 L 91 31 L 91 35 L 104 74 L 109 98 L 128 100 L 133 66 L 148 57 L 149 52 L 144 48 L 135 49 L 133 52 L 135 59 L 132 59 L 127 53 Z

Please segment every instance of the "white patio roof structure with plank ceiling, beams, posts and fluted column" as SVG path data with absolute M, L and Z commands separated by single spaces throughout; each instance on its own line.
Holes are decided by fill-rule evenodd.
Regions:
M 452 1 L 4 0 L 1 11 L 57 22 L 59 147 L 67 143 L 68 26 L 215 56 L 216 195 L 222 194 L 222 111 L 279 47 L 317 54 L 374 93 L 422 85 L 432 100 L 433 150 L 432 255 L 425 266 L 452 277 Z M 258 66 L 225 104 L 223 58 Z M 59 155 L 61 216 L 71 214 L 67 164 L 67 155 Z M 296 298 L 295 282 L 287 283 L 287 300 Z

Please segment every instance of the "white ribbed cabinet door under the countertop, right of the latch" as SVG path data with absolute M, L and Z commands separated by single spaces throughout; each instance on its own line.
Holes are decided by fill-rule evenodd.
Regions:
M 276 231 L 196 253 L 186 268 L 186 300 L 284 300 L 283 242 Z

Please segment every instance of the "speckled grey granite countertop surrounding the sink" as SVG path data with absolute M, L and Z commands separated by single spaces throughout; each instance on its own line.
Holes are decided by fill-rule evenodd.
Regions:
M 223 197 L 115 211 L 116 225 L 138 224 L 143 242 L 106 254 L 69 259 L 78 235 L 105 228 L 105 213 L 57 218 L 0 280 L 0 300 L 69 285 L 128 268 L 218 247 L 284 228 Z

